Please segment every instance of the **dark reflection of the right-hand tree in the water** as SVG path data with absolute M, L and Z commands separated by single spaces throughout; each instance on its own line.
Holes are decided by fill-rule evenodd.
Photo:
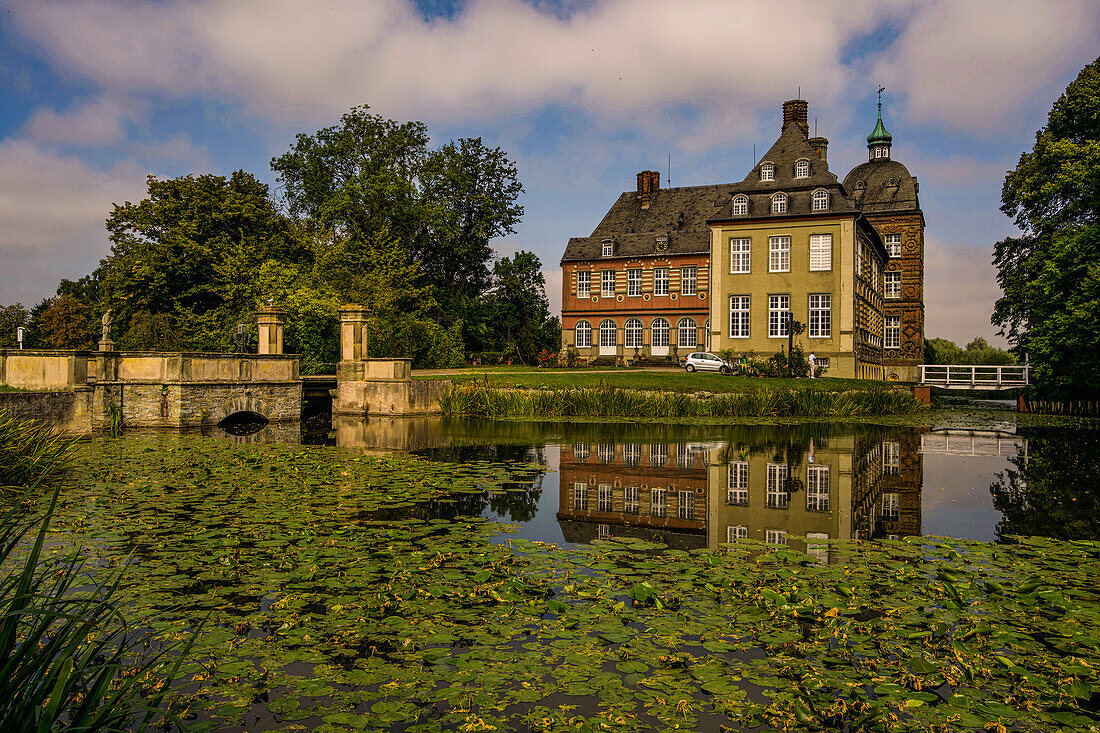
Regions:
M 989 488 L 1004 516 L 997 536 L 1100 539 L 1100 431 L 1022 429 L 1026 451 Z

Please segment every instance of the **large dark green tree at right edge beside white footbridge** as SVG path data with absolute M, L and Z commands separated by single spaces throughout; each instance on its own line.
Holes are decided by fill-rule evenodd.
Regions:
M 1023 230 L 997 243 L 1004 295 L 993 322 L 1027 353 L 1041 396 L 1100 393 L 1100 58 L 1050 110 L 1004 179 L 1003 210 Z

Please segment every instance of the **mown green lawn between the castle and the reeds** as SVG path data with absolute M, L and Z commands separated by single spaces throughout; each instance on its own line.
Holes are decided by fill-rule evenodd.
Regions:
M 438 378 L 414 378 L 438 379 Z M 529 366 L 480 366 L 448 375 L 455 384 L 485 381 L 491 386 L 517 387 L 598 387 L 601 384 L 624 390 L 664 390 L 668 392 L 747 392 L 760 387 L 809 387 L 842 392 L 882 386 L 886 382 L 848 379 L 788 380 L 760 376 L 727 376 L 715 372 L 682 369 L 642 371 L 640 369 L 534 369 Z

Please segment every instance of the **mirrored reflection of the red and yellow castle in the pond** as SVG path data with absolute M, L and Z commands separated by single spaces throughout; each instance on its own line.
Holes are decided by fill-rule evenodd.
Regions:
M 568 541 L 618 535 L 691 549 L 749 538 L 824 561 L 827 546 L 814 540 L 921 534 L 913 431 L 785 446 L 575 442 L 560 469 Z

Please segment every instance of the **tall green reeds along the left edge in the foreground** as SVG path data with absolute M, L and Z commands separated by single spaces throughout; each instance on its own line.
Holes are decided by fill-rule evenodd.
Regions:
M 73 449 L 0 412 L 0 730 L 145 731 L 173 672 L 119 613 L 121 569 L 90 581 L 79 547 L 47 546 Z

